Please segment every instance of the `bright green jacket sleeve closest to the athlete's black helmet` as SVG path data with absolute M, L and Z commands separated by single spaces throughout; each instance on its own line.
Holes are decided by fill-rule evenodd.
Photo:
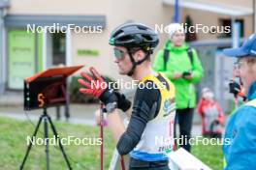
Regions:
M 164 66 L 165 62 L 164 62 L 164 50 L 160 50 L 158 51 L 154 63 L 153 63 L 153 70 L 154 71 L 158 71 L 158 72 L 162 72 L 164 73 L 169 79 L 173 80 L 174 79 L 174 71 L 168 70 L 165 71 Z

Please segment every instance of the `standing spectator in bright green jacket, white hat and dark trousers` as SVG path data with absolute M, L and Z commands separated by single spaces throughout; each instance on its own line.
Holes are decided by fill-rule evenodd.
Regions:
M 158 51 L 153 63 L 154 71 L 160 71 L 176 87 L 176 121 L 182 139 L 181 147 L 190 152 L 188 140 L 191 136 L 193 112 L 196 106 L 195 83 L 203 77 L 203 68 L 195 49 L 185 41 L 184 28 L 178 23 L 166 27 L 169 40 Z

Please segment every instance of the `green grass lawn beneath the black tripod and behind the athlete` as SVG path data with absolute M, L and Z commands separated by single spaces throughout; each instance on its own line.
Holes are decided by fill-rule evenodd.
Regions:
M 98 138 L 99 128 L 54 122 L 60 137 L 76 136 L 78 138 Z M 31 136 L 34 126 L 27 121 L 0 117 L 0 169 L 16 170 L 26 151 L 27 136 Z M 43 138 L 43 125 L 37 137 Z M 49 136 L 52 136 L 50 130 Z M 112 158 L 114 143 L 108 129 L 105 130 L 105 168 L 108 169 Z M 75 170 L 99 170 L 100 147 L 95 145 L 79 145 L 74 143 L 64 146 L 67 155 L 72 158 L 71 164 Z M 193 155 L 200 158 L 212 169 L 221 169 L 222 156 L 219 146 L 193 146 Z M 64 158 L 58 147 L 49 146 L 50 169 L 67 169 Z M 32 147 L 24 169 L 46 169 L 45 147 Z

